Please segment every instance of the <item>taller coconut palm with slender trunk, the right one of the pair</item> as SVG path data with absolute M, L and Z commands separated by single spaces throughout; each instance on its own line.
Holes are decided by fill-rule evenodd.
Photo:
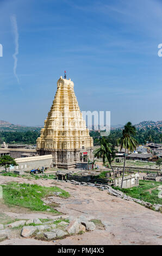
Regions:
M 136 145 L 138 142 L 136 141 L 135 138 L 132 136 L 135 136 L 136 134 L 136 129 L 135 126 L 132 125 L 132 123 L 128 122 L 126 125 L 124 125 L 124 129 L 122 131 L 122 137 L 117 139 L 117 145 L 121 145 L 120 149 L 122 148 L 125 149 L 124 153 L 124 166 L 123 166 L 123 175 L 122 175 L 122 182 L 121 182 L 121 188 L 123 186 L 123 179 L 124 179 L 124 172 L 125 172 L 125 167 L 126 167 L 126 151 L 133 151 L 136 149 Z

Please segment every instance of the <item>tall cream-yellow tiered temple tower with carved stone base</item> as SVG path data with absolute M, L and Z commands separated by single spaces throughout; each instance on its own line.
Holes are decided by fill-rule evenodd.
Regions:
M 39 155 L 52 154 L 53 167 L 72 168 L 93 160 L 94 143 L 80 112 L 74 84 L 59 78 L 51 110 L 36 140 Z

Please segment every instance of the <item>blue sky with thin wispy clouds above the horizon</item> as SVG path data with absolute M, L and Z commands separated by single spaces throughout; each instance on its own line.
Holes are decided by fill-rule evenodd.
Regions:
M 0 120 L 42 125 L 64 70 L 82 111 L 161 120 L 161 43 L 162 1 L 0 0 Z

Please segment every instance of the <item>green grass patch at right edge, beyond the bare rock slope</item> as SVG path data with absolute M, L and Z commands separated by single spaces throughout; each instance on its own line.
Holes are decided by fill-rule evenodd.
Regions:
M 161 185 L 161 182 L 152 181 L 152 180 L 140 180 L 138 187 L 132 188 L 118 188 L 114 187 L 116 190 L 120 190 L 127 196 L 144 200 L 145 202 L 151 204 L 162 204 L 162 199 L 158 197 L 159 190 L 158 186 Z M 151 193 L 148 191 L 150 188 L 155 188 Z

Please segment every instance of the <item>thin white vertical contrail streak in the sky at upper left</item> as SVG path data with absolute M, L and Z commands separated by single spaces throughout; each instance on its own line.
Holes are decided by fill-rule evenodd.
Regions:
M 16 68 L 17 68 L 17 55 L 18 55 L 18 29 L 17 29 L 17 21 L 16 21 L 16 16 L 12 15 L 11 16 L 11 24 L 13 26 L 13 32 L 15 35 L 15 53 L 13 54 L 13 58 L 14 58 L 14 75 L 17 79 L 17 82 L 20 83 L 18 76 L 16 74 Z

